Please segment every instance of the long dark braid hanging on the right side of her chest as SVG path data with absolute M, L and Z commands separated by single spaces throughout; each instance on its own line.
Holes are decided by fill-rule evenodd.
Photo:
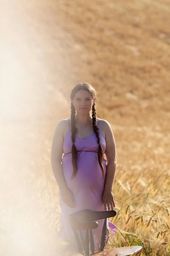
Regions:
M 94 132 L 96 134 L 97 137 L 97 143 L 99 144 L 99 149 L 98 149 L 98 161 L 99 161 L 99 166 L 102 169 L 102 173 L 104 175 L 104 168 L 103 168 L 103 164 L 102 164 L 102 160 L 103 160 L 103 148 L 100 145 L 100 137 L 99 137 L 99 128 L 97 127 L 96 124 L 96 108 L 95 108 L 95 103 L 92 106 L 92 119 L 93 119 L 93 128 L 94 128 Z

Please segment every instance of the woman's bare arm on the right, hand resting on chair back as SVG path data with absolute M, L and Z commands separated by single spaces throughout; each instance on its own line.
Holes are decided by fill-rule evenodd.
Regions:
M 113 131 L 111 125 L 105 121 L 105 140 L 106 140 L 106 159 L 107 159 L 107 172 L 105 180 L 105 189 L 103 193 L 103 201 L 105 206 L 108 206 L 108 210 L 115 207 L 115 202 L 112 194 L 112 188 L 116 173 L 116 144 L 114 140 Z

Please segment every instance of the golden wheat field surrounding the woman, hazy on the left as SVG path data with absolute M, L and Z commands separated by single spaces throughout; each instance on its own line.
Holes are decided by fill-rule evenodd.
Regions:
M 79 82 L 116 140 L 110 247 L 170 255 L 170 1 L 1 1 L 0 17 L 0 256 L 70 255 L 50 157 Z

